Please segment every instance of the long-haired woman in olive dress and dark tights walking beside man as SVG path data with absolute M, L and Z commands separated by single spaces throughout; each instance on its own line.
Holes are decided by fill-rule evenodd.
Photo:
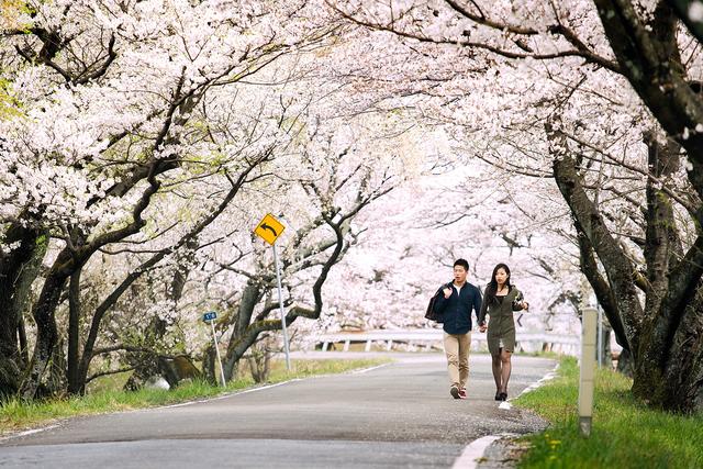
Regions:
M 527 310 L 529 304 L 510 283 L 510 269 L 499 264 L 493 269 L 491 281 L 483 293 L 483 304 L 479 313 L 479 330 L 486 332 L 486 313 L 488 323 L 488 349 L 491 353 L 493 379 L 495 380 L 495 400 L 507 399 L 507 381 L 510 380 L 510 358 L 515 349 L 515 321 L 513 311 Z

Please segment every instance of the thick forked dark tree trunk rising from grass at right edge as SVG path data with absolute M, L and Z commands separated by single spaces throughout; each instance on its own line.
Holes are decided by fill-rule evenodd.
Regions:
M 650 159 L 655 174 L 660 163 L 659 157 Z M 644 247 L 648 265 L 647 278 L 643 279 L 585 193 L 571 156 L 555 160 L 555 178 L 574 217 L 574 227 L 588 238 L 607 275 L 607 288 L 616 302 L 616 320 L 622 319 L 625 325 L 633 354 L 634 394 L 652 406 L 670 411 L 700 410 L 703 236 L 699 235 L 681 257 L 670 201 L 648 179 Z M 593 288 L 601 288 L 600 283 L 602 280 L 592 283 Z M 646 309 L 639 303 L 637 288 L 645 292 Z M 609 320 L 613 324 L 610 315 Z

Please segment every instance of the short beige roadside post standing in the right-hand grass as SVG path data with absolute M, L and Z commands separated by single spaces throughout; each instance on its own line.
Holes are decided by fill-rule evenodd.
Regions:
M 581 373 L 579 379 L 579 427 L 583 436 L 591 434 L 591 421 L 593 417 L 596 316 L 595 309 L 583 309 L 581 321 Z

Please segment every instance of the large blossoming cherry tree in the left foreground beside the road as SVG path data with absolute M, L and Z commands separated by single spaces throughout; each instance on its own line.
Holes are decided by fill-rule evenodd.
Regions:
M 3 31 L 3 70 L 12 70 L 22 111 L 2 123 L 7 362 L 38 275 L 25 267 L 44 256 L 51 263 L 31 305 L 36 340 L 23 395 L 34 395 L 51 360 L 64 287 L 70 280 L 79 290 L 80 271 L 99 249 L 140 234 L 154 216 L 149 206 L 182 180 L 231 174 L 238 188 L 237 178 L 284 138 L 280 125 L 267 127 L 256 156 L 238 159 L 236 147 L 203 138 L 199 105 L 326 31 L 295 26 L 305 2 L 231 3 L 27 2 L 22 27 Z

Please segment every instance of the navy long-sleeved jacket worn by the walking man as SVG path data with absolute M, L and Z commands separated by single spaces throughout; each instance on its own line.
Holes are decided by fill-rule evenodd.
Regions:
M 451 287 L 451 295 L 444 298 L 442 290 Z M 460 292 L 454 283 L 445 283 L 439 288 L 438 297 L 435 300 L 435 313 L 442 317 L 444 332 L 447 334 L 466 334 L 471 331 L 471 309 L 478 320 L 481 311 L 481 291 L 473 284 L 465 282 Z

